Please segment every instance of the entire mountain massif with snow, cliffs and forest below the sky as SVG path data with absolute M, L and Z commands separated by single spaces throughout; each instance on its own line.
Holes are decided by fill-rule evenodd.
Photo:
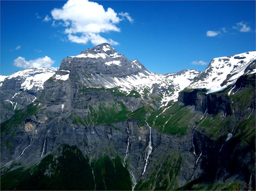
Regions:
M 1 76 L 1 190 L 255 190 L 255 61 L 162 75 L 103 43 Z

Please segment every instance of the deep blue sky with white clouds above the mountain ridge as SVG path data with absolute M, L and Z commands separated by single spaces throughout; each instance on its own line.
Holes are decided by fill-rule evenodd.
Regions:
M 69 0 L 70 13 L 67 1 L 0 1 L 0 74 L 59 67 L 104 40 L 156 73 L 202 71 L 214 57 L 255 50 L 255 1 L 94 2 Z

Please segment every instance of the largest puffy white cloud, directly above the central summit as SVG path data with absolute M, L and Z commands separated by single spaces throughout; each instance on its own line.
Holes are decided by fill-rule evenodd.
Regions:
M 105 39 L 99 33 L 120 32 L 116 24 L 124 18 L 133 22 L 129 13 L 117 14 L 112 8 L 107 8 L 105 11 L 102 5 L 88 0 L 69 0 L 62 8 L 54 8 L 51 14 L 54 19 L 52 26 L 65 26 L 69 41 L 82 44 L 89 41 L 94 45 L 99 42 L 118 44 L 112 39 Z M 56 24 L 55 20 L 62 20 L 62 22 Z

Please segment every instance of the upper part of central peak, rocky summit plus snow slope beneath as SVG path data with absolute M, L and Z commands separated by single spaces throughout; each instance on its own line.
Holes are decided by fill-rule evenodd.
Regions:
M 69 78 L 64 78 L 68 74 Z M 148 71 L 137 59 L 130 61 L 107 43 L 82 51 L 75 57 L 67 57 L 52 79 L 58 80 L 56 76 L 62 80 L 79 76 L 85 87 L 115 87 L 126 94 L 135 90 L 149 99 L 158 96 L 162 104 L 167 104 L 175 89 L 179 89 L 165 75 Z

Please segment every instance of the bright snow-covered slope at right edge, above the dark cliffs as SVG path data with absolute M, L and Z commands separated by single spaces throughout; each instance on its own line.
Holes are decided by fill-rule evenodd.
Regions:
M 208 93 L 221 91 L 233 85 L 241 75 L 244 75 L 246 68 L 254 64 L 255 59 L 256 51 L 214 58 L 188 88 L 206 88 Z

